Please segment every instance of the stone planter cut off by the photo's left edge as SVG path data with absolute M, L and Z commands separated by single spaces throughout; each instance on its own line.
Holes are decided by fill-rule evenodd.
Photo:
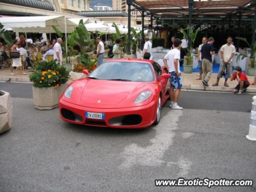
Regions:
M 0 133 L 12 128 L 12 98 L 8 92 L 0 91 Z

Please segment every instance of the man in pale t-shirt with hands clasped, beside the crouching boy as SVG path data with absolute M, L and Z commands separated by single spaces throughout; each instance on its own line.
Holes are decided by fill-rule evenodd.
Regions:
M 225 82 L 224 86 L 229 87 L 227 84 L 228 78 L 231 76 L 232 72 L 232 58 L 234 54 L 236 53 L 236 48 L 234 45 L 232 45 L 233 38 L 228 36 L 227 38 L 227 44 L 222 45 L 220 48 L 220 55 L 221 55 L 221 61 L 220 61 L 220 69 L 217 75 L 217 81 L 212 86 L 218 86 L 220 78 L 223 76 L 222 73 L 225 72 Z M 226 68 L 226 70 L 224 70 Z

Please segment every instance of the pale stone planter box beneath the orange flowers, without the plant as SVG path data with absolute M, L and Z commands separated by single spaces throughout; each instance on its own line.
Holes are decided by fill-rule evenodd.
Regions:
M 48 87 L 48 88 L 32 88 L 34 107 L 39 110 L 49 110 L 58 107 L 59 98 L 62 93 L 66 90 L 68 84 L 61 84 L 59 87 Z

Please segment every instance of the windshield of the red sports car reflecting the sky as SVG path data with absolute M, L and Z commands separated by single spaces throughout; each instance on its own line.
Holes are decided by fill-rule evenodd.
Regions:
M 115 81 L 153 81 L 150 64 L 136 62 L 106 62 L 94 70 L 88 78 Z

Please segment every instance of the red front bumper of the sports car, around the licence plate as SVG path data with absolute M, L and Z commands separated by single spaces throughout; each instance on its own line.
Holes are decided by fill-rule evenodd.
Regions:
M 112 128 L 146 128 L 154 123 L 156 120 L 156 108 L 157 108 L 157 100 L 150 102 L 144 106 L 139 107 L 131 107 L 131 108 L 111 108 L 111 109 L 102 109 L 102 108 L 88 108 L 84 106 L 79 106 L 76 104 L 72 104 L 70 102 L 64 101 L 62 98 L 59 100 L 59 110 L 60 110 L 60 118 L 66 122 L 74 123 L 74 124 L 84 124 L 88 126 L 101 126 L 101 127 L 112 127 Z M 79 117 L 78 120 L 70 120 L 64 118 L 62 115 L 62 109 L 69 110 Z M 88 119 L 85 117 L 85 112 L 96 112 L 96 113 L 105 113 L 104 120 L 94 120 Z M 114 125 L 111 124 L 113 118 L 120 116 L 129 116 L 129 115 L 137 115 L 141 116 L 141 122 L 136 125 Z M 109 122 L 110 121 L 110 122 Z

